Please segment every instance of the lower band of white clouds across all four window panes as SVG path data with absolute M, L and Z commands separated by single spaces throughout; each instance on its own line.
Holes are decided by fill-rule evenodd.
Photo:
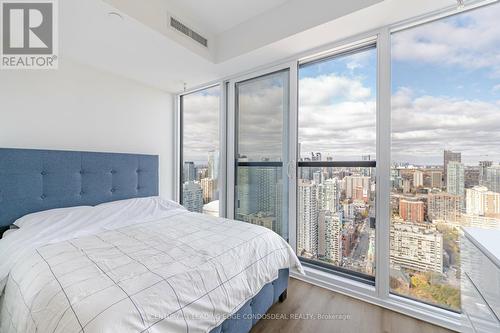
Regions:
M 279 81 L 240 87 L 239 151 L 253 160 L 281 160 L 284 96 Z M 299 142 L 302 156 L 322 152 L 334 159 L 375 155 L 374 93 L 357 79 L 335 75 L 300 81 Z M 205 161 L 218 149 L 217 95 L 184 100 L 185 159 Z M 442 163 L 444 149 L 462 152 L 464 162 L 500 162 L 500 103 L 416 95 L 408 88 L 392 96 L 392 159 Z

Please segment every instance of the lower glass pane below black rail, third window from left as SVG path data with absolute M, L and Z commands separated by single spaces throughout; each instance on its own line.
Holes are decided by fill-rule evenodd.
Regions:
M 375 168 L 300 167 L 297 254 L 375 275 Z

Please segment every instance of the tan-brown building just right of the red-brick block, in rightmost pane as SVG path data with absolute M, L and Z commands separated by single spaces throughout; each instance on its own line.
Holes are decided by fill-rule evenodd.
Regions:
M 429 194 L 427 214 L 429 220 L 459 222 L 462 210 L 462 198 L 458 195 L 440 192 Z

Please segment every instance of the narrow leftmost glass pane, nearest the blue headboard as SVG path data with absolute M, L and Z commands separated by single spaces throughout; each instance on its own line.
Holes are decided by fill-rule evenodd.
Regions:
M 219 216 L 219 103 L 215 86 L 181 97 L 182 204 Z

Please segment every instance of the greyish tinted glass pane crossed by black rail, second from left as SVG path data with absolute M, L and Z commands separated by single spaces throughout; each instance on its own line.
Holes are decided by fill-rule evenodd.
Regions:
M 236 84 L 235 218 L 287 239 L 289 71 Z

